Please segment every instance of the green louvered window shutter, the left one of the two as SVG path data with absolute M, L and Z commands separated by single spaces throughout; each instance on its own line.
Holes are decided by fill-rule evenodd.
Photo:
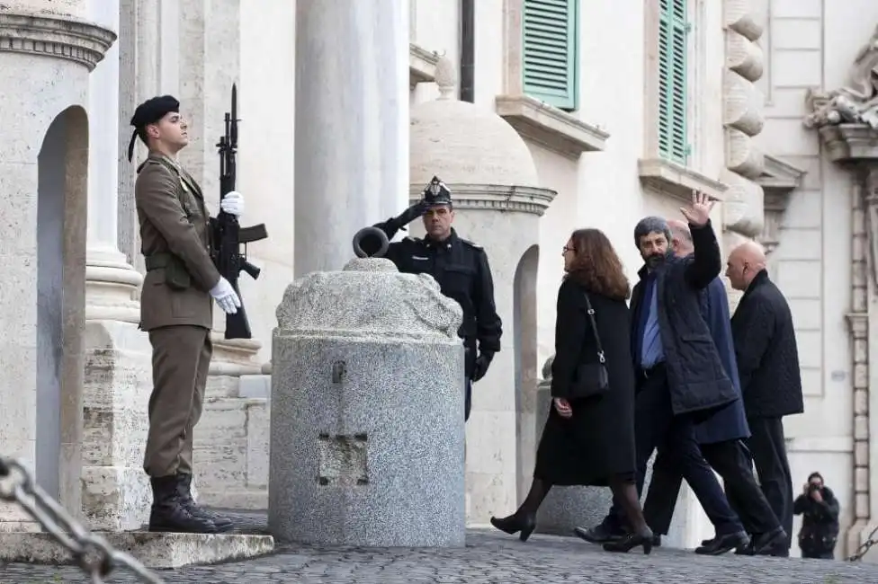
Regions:
M 524 93 L 561 110 L 578 107 L 579 0 L 524 0 Z

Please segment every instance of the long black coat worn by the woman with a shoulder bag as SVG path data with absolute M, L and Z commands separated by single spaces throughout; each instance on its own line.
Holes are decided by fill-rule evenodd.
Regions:
M 610 389 L 601 396 L 571 401 L 569 419 L 550 406 L 533 477 L 551 484 L 605 486 L 613 475 L 632 477 L 635 468 L 631 314 L 624 300 L 595 292 L 588 297 L 595 309 Z M 597 361 L 586 289 L 565 279 L 558 291 L 552 397 L 569 398 L 579 365 Z

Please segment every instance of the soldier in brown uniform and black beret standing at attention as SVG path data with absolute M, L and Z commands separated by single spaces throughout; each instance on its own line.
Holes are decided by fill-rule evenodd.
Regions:
M 170 95 L 141 103 L 131 125 L 148 147 L 134 196 L 147 275 L 140 296 L 140 328 L 152 345 L 153 390 L 143 467 L 153 492 L 150 531 L 218 533 L 231 522 L 198 507 L 191 492 L 193 429 L 202 413 L 211 362 L 213 302 L 234 314 L 241 302 L 211 260 L 211 217 L 202 190 L 177 162 L 189 142 L 180 102 Z M 239 216 L 240 193 L 222 210 Z

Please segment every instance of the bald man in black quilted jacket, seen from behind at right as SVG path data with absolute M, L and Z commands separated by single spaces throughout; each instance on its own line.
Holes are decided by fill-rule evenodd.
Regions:
M 748 241 L 730 253 L 726 277 L 744 292 L 731 317 L 731 334 L 751 433 L 747 444 L 762 491 L 786 533 L 792 534 L 793 476 L 786 458 L 784 416 L 804 411 L 793 314 L 768 279 L 766 253 L 758 243 Z M 729 500 L 739 503 L 731 496 Z M 790 544 L 787 539 L 773 555 L 789 555 Z

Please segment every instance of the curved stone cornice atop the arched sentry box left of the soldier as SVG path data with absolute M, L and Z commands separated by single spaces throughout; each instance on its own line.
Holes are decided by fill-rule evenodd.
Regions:
M 0 52 L 67 59 L 91 71 L 115 40 L 115 32 L 73 17 L 0 12 Z

